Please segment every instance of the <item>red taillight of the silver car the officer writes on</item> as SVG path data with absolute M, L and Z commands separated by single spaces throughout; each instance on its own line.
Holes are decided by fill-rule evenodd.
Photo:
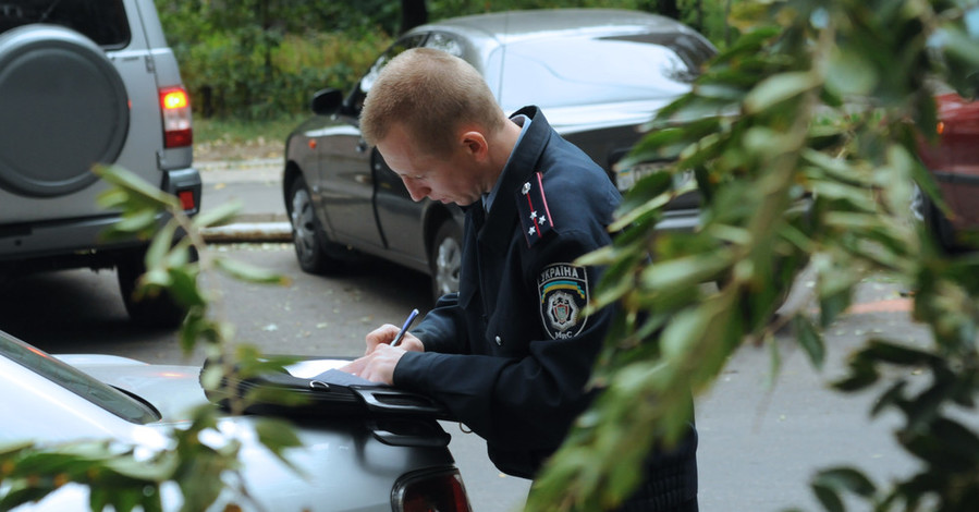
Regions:
M 395 512 L 472 512 L 458 471 L 415 473 L 394 486 Z

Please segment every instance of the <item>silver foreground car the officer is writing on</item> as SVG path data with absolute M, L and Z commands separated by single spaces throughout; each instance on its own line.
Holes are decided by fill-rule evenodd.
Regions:
M 118 356 L 51 356 L 0 331 L 0 446 L 111 440 L 152 453 L 169 446 L 166 430 L 180 428 L 188 410 L 207 401 L 199 374 Z M 435 419 L 400 419 L 403 431 L 382 430 L 389 428 L 382 420 L 328 415 L 296 422 L 303 447 L 284 454 L 299 474 L 244 434 L 256 417 L 220 420 L 219 430 L 242 434 L 235 438 L 243 442 L 248 498 L 227 490 L 209 510 L 469 511 L 448 434 Z M 66 485 L 14 510 L 87 511 L 87 495 L 84 486 Z M 163 510 L 180 510 L 175 484 L 164 485 L 161 497 Z M 242 509 L 225 509 L 230 502 Z

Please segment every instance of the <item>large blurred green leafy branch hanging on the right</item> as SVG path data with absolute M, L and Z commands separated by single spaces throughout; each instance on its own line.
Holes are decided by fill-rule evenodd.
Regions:
M 858 468 L 827 468 L 812 480 L 821 505 L 975 510 L 979 435 L 958 418 L 975 417 L 979 392 L 979 256 L 943 254 L 909 205 L 916 185 L 942 205 L 917 148 L 934 141 L 937 84 L 965 97 L 979 86 L 976 2 L 739 2 L 730 23 L 744 36 L 622 163 L 676 160 L 636 184 L 613 227 L 622 233 L 585 259 L 609 266 L 597 305 L 622 305 L 593 379 L 604 392 L 528 509 L 614 507 L 639 481 L 654 435 L 684 431 L 688 390 L 709 389 L 738 348 L 767 344 L 778 368 L 770 320 L 810 267 L 818 314 L 790 312 L 788 321 L 816 368 L 827 357 L 821 329 L 869 275 L 915 290 L 914 319 L 933 338 L 923 349 L 868 339 L 833 385 L 879 391 L 870 412 L 903 417 L 894 435 L 917 473 L 874 483 Z M 684 170 L 703 198 L 700 228 L 657 233 L 662 205 L 686 191 L 675 184 Z M 889 367 L 929 378 L 913 383 Z

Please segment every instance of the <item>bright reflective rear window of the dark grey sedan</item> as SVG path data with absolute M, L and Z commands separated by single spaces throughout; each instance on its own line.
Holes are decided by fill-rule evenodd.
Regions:
M 535 39 L 494 50 L 487 82 L 499 87 L 504 106 L 643 101 L 688 92 L 712 54 L 685 34 Z M 500 61 L 503 71 L 494 75 Z

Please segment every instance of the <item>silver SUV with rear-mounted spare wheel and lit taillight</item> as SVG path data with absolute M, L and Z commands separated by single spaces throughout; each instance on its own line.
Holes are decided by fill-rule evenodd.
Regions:
M 93 163 L 200 207 L 191 106 L 152 0 L 0 2 L 0 279 L 115 268 L 132 318 L 174 325 L 166 295 L 133 295 L 146 241 L 106 241 Z

